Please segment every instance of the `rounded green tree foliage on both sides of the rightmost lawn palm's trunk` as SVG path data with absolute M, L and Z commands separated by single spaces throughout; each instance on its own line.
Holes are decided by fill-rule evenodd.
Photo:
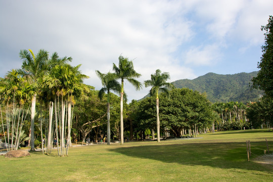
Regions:
M 134 120 L 138 123 L 135 128 L 145 131 L 147 128 L 156 128 L 156 99 L 145 98 L 139 102 Z M 188 88 L 175 88 L 169 95 L 162 94 L 159 102 L 159 116 L 161 129 L 170 129 L 175 136 L 180 135 L 183 128 L 209 127 L 215 116 L 211 103 L 204 94 Z

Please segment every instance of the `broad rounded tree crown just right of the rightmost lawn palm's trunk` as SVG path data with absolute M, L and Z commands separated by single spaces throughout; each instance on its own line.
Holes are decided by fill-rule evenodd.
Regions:
M 179 136 L 183 128 L 195 125 L 203 128 L 213 121 L 211 104 L 206 96 L 188 88 L 173 89 L 170 97 L 162 95 L 160 113 L 162 125 L 170 128 L 175 136 Z

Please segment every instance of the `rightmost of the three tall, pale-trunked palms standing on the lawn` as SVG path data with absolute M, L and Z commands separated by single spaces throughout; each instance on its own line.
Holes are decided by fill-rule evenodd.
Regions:
M 150 80 L 145 80 L 145 87 L 152 86 L 150 90 L 150 96 L 156 96 L 156 127 L 157 127 L 157 142 L 160 142 L 160 121 L 159 121 L 159 93 L 168 93 L 168 88 L 173 88 L 171 83 L 166 82 L 170 79 L 170 75 L 167 72 L 161 74 L 159 69 L 155 74 L 151 74 Z

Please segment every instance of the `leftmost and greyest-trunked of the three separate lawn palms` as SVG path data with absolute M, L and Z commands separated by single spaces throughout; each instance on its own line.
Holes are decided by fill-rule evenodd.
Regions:
M 110 145 L 110 90 L 113 90 L 115 93 L 120 93 L 121 85 L 116 80 L 117 76 L 115 73 L 108 72 L 103 74 L 100 71 L 96 70 L 97 75 L 102 80 L 102 87 L 99 92 L 99 98 L 102 100 L 103 95 L 107 92 L 107 145 Z

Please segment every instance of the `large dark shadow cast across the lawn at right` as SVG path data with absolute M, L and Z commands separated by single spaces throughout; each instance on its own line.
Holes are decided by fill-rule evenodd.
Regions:
M 251 152 L 262 155 L 265 148 L 263 142 L 253 142 Z M 272 143 L 270 144 L 273 145 Z M 246 144 L 230 143 L 193 143 L 149 145 L 136 147 L 121 147 L 110 149 L 111 152 L 120 153 L 130 157 L 158 160 L 165 163 L 178 163 L 182 165 L 203 165 L 218 168 L 237 168 L 258 171 L 270 171 L 254 162 L 247 161 Z M 254 157 L 253 157 L 254 158 Z M 272 172 L 270 172 L 272 173 Z

